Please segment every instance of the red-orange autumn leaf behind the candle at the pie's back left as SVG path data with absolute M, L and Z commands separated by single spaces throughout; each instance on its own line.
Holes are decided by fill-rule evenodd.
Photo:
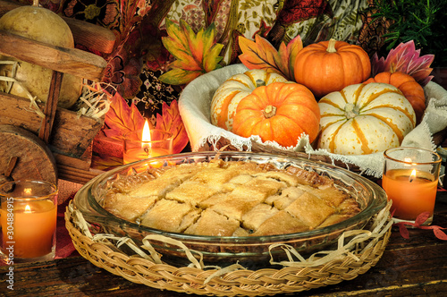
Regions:
M 139 113 L 137 106 L 129 106 L 118 93 L 111 99 L 110 109 L 105 114 L 105 136 L 122 140 L 127 132 L 143 129 L 145 118 Z M 150 127 L 154 129 L 153 126 Z M 173 100 L 171 106 L 165 102 L 162 106 L 162 115 L 156 115 L 156 129 L 173 133 L 173 153 L 180 153 L 190 139 L 181 121 L 178 104 Z

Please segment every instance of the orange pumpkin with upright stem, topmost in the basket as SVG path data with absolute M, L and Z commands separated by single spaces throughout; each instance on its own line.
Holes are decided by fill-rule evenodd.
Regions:
M 295 81 L 310 89 L 316 98 L 366 81 L 371 62 L 363 48 L 331 39 L 301 49 L 294 62 Z

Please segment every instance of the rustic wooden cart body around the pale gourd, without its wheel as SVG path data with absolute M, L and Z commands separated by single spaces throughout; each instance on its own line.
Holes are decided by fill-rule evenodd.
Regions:
M 0 0 L 0 17 L 22 4 Z M 110 54 L 115 36 L 111 30 L 86 21 L 64 18 L 76 45 Z M 77 48 L 62 48 L 22 38 L 0 30 L 0 55 L 38 64 L 53 70 L 53 80 L 46 104 L 39 105 L 45 117 L 30 110 L 30 100 L 0 92 L 0 124 L 19 126 L 42 140 L 55 155 L 60 177 L 73 182 L 87 182 L 98 173 L 89 169 L 91 143 L 104 124 L 99 119 L 57 107 L 63 73 L 101 81 L 105 71 L 105 58 Z

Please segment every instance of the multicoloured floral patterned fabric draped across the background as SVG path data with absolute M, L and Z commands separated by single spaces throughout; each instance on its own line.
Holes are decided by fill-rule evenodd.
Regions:
M 221 64 L 227 65 L 239 63 L 239 36 L 259 34 L 275 47 L 297 35 L 304 45 L 329 38 L 361 44 L 364 21 L 358 12 L 367 7 L 367 0 L 40 0 L 40 4 L 114 32 L 116 44 L 114 52 L 104 56 L 108 66 L 103 81 L 154 123 L 162 103 L 177 100 L 184 87 L 158 79 L 173 62 L 162 43 L 166 19 L 184 20 L 196 32 L 214 22 L 216 41 L 223 44 Z

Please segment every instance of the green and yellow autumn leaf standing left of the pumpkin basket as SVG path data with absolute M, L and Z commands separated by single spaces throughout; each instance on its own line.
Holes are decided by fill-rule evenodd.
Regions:
M 180 25 L 166 19 L 168 36 L 162 38 L 164 47 L 175 57 L 170 64 L 171 70 L 159 77 L 160 81 L 172 85 L 187 84 L 221 65 L 223 57 L 219 56 L 223 45 L 215 42 L 215 23 L 207 30 L 200 29 L 196 34 L 186 21 Z

